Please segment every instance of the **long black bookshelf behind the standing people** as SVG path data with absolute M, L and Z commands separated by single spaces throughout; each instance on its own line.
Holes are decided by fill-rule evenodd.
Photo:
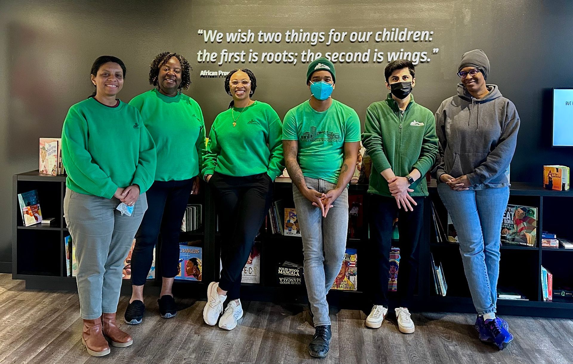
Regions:
M 368 198 L 367 185 L 352 184 L 349 194 L 362 194 L 364 220 Z M 56 221 L 50 226 L 41 224 L 25 227 L 19 213 L 17 194 L 29 190 L 38 190 L 42 214 L 44 217 L 54 217 Z M 442 221 L 446 218 L 445 208 L 441 204 L 435 182 L 430 183 L 429 199 L 441 214 Z M 26 281 L 26 288 L 48 290 L 74 290 L 76 280 L 66 277 L 64 238 L 69 235 L 63 218 L 63 202 L 65 195 L 65 176 L 51 176 L 30 171 L 13 177 L 13 250 L 12 265 L 13 279 Z M 513 183 L 509 203 L 536 206 L 539 208 L 539 225 L 537 226 L 537 246 L 535 248 L 519 245 L 501 246 L 500 283 L 513 284 L 523 288 L 528 293 L 529 300 L 498 300 L 500 314 L 545 316 L 573 318 L 573 302 L 544 302 L 541 297 L 541 264 L 554 275 L 554 282 L 565 281 L 573 285 L 573 265 L 569 252 L 563 248 L 542 248 L 541 231 L 551 230 L 560 237 L 573 240 L 573 231 L 565 219 L 562 205 L 573 202 L 573 191 L 559 192 L 544 190 L 541 186 L 528 183 Z M 292 184 L 281 179 L 274 183 L 274 197 L 285 200 L 285 208 L 294 207 L 292 203 Z M 203 205 L 203 227 L 194 232 L 180 234 L 180 241 L 201 240 L 203 249 L 203 280 L 179 281 L 174 284 L 177 295 L 205 298 L 206 285 L 219 279 L 219 252 L 221 234 L 217 230 L 215 206 L 209 188 L 203 183 L 199 195 L 190 195 L 189 203 Z M 291 206 L 292 203 L 292 206 Z M 431 205 L 425 204 L 425 228 L 420 244 L 419 287 L 415 296 L 414 309 L 422 311 L 446 312 L 475 312 L 469 296 L 467 281 L 461 265 L 461 256 L 456 244 L 432 241 Z M 447 220 L 445 220 L 447 222 Z M 363 221 L 366 229 L 367 222 Z M 306 303 L 304 283 L 301 286 L 279 286 L 276 282 L 276 265 L 285 260 L 301 264 L 303 262 L 302 240 L 300 237 L 284 237 L 272 234 L 268 223 L 262 226 L 257 237 L 261 241 L 261 282 L 258 284 L 242 284 L 241 296 L 245 300 L 262 300 L 280 303 Z M 348 239 L 347 247 L 358 250 L 359 256 L 364 256 L 364 246 L 368 243 L 368 233 L 362 232 L 358 237 Z M 434 292 L 433 275 L 431 272 L 430 252 L 436 260 L 442 261 L 446 281 L 448 281 L 448 296 L 438 296 Z M 217 257 L 217 258 L 215 258 Z M 363 259 L 359 259 L 359 262 Z M 159 260 L 156 259 L 156 264 Z M 360 266 L 360 263 L 358 263 Z M 154 287 L 159 291 L 160 265 L 156 266 L 156 279 L 148 280 L 146 291 Z M 365 273 L 362 273 L 365 274 Z M 398 275 L 399 278 L 399 275 Z M 367 297 L 362 292 L 366 279 L 361 278 L 358 291 L 335 291 L 328 294 L 328 301 L 340 308 L 364 309 L 367 307 Z M 131 292 L 128 280 L 124 280 L 122 292 Z M 391 295 L 390 295 L 391 297 Z

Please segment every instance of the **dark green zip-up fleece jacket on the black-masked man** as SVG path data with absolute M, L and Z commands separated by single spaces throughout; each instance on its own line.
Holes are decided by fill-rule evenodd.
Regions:
M 415 168 L 422 177 L 410 186 L 414 190 L 410 195 L 428 195 L 425 175 L 434 165 L 438 138 L 433 113 L 415 103 L 413 95 L 404 113 L 391 93 L 386 100 L 371 104 L 366 109 L 362 144 L 374 167 L 368 193 L 391 196 L 380 172 L 391 168 L 398 177 L 406 177 Z

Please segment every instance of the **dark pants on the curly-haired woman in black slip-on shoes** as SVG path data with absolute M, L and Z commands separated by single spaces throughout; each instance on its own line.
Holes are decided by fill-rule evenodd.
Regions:
M 161 276 L 178 275 L 179 233 L 193 189 L 193 179 L 155 181 L 147 190 L 148 209 L 136 234 L 131 255 L 131 284 L 144 285 L 153 260 L 153 248 L 161 233 L 159 252 Z

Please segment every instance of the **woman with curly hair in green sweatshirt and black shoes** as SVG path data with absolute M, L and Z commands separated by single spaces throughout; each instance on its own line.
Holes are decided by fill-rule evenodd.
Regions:
M 163 318 L 177 314 L 171 292 L 179 266 L 179 232 L 189 194 L 197 194 L 205 155 L 205 123 L 199 104 L 184 95 L 189 88 L 191 67 L 177 53 L 159 53 L 151 62 L 149 83 L 154 89 L 135 96 L 129 105 L 137 108 L 157 150 L 155 182 L 147 191 L 149 209 L 143 217 L 131 255 L 131 300 L 125 322 L 142 322 L 145 306 L 143 286 L 153 260 L 153 249 L 161 233 L 162 289 L 159 313 Z

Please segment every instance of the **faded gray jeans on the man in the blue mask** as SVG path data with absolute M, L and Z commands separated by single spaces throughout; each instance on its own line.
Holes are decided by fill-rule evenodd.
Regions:
M 309 189 L 326 193 L 336 187 L 323 179 L 305 177 Z M 319 208 L 292 186 L 300 233 L 303 237 L 304 281 L 315 326 L 331 324 L 326 295 L 340 272 L 348 233 L 348 189 L 335 199 L 323 218 Z

